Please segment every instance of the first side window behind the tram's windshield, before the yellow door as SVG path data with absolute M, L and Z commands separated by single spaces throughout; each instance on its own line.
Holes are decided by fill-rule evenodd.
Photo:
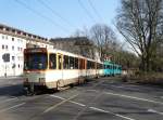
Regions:
M 50 69 L 55 69 L 57 68 L 57 55 L 55 54 L 50 54 L 49 68 Z

